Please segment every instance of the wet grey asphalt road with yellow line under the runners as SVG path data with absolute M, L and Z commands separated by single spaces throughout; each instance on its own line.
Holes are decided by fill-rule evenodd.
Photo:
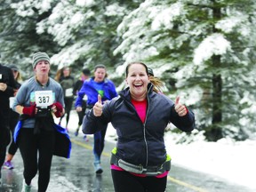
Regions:
M 51 180 L 49 192 L 114 192 L 110 169 L 109 157 L 115 144 L 107 142 L 101 158 L 104 172 L 96 175 L 93 170 L 92 143 L 83 139 L 82 134 L 78 137 L 70 133 L 72 151 L 70 159 L 54 156 L 52 160 Z M 14 156 L 13 170 L 2 170 L 3 185 L 0 192 L 20 192 L 22 185 L 22 160 L 20 152 Z M 37 179 L 32 180 L 32 192 L 37 191 Z M 200 172 L 192 172 L 172 165 L 168 176 L 166 191 L 173 192 L 252 192 L 244 186 L 230 183 L 227 180 L 207 175 Z M 157 192 L 157 191 L 156 191 Z

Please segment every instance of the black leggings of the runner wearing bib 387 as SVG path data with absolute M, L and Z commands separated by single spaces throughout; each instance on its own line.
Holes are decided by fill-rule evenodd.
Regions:
M 55 132 L 41 130 L 39 135 L 34 134 L 34 129 L 21 128 L 18 137 L 18 146 L 23 159 L 23 176 L 29 185 L 31 180 L 38 177 L 38 192 L 46 191 L 52 166 L 52 154 L 55 145 Z M 39 158 L 37 159 L 37 153 Z

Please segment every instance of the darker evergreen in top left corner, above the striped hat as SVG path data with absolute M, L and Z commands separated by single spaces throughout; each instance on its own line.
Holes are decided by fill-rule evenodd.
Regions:
M 7 0 L 0 3 L 0 52 L 2 53 L 2 61 L 6 65 L 19 65 L 23 70 L 24 78 L 33 75 L 31 62 L 34 52 L 47 52 L 52 55 L 56 48 L 52 36 L 36 33 L 36 23 L 48 17 L 51 10 L 41 14 L 32 5 L 25 12 L 22 9 L 22 7 L 26 7 L 25 3 L 28 1 Z M 33 1 L 30 1 L 31 3 Z

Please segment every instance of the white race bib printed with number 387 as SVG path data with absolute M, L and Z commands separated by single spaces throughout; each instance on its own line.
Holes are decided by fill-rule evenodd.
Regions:
M 53 103 L 52 91 L 36 91 L 35 100 L 37 107 L 48 107 Z

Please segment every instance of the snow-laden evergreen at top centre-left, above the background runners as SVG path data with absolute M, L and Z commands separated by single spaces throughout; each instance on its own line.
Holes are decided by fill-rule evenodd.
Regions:
M 38 49 L 48 52 L 56 68 L 71 66 L 80 74 L 84 66 L 93 68 L 102 63 L 114 68 L 123 62 L 121 55 L 113 55 L 120 39 L 116 36 L 116 27 L 140 1 L 12 0 L 10 3 L 15 19 L 29 25 L 26 30 L 20 29 L 25 34 L 29 30 L 28 36 L 22 38 L 28 41 L 27 51 L 30 54 Z M 44 46 L 45 43 L 48 46 Z

